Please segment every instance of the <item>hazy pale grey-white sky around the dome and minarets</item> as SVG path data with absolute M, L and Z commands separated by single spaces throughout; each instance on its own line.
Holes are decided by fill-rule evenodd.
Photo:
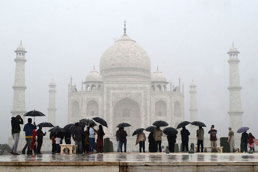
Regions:
M 0 0 L 0 143 L 11 136 L 14 50 L 25 47 L 26 110 L 48 114 L 49 83 L 56 87 L 57 124 L 67 124 L 69 78 L 81 80 L 99 67 L 107 47 L 127 35 L 149 54 L 159 70 L 185 85 L 189 120 L 189 85 L 197 84 L 198 118 L 227 136 L 228 55 L 232 41 L 240 54 L 243 125 L 258 137 L 257 1 L 9 1 Z M 211 120 L 212 119 L 212 120 Z M 36 117 L 36 123 L 47 117 Z M 205 129 L 208 131 L 208 128 Z M 205 132 L 208 136 L 207 132 Z

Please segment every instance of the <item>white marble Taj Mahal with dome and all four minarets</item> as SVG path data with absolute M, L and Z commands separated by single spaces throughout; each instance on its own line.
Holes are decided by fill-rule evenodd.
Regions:
M 125 23 L 125 22 L 124 22 Z M 68 121 L 75 123 L 83 118 L 101 117 L 106 120 L 108 128 L 104 127 L 105 137 L 109 137 L 116 150 L 115 132 L 119 123 L 129 123 L 132 126 L 126 127 L 127 151 L 137 151 L 135 137 L 132 133 L 136 128 L 146 128 L 152 126 L 157 120 L 164 120 L 170 127 L 176 128 L 178 123 L 185 120 L 184 115 L 184 85 L 178 78 L 178 85 L 168 82 L 166 76 L 157 67 L 156 72 L 151 72 L 151 61 L 147 52 L 140 47 L 136 41 L 126 34 L 126 24 L 124 24 L 124 34 L 115 41 L 102 54 L 99 61 L 99 71 L 93 70 L 81 82 L 80 91 L 76 84 L 73 84 L 72 77 L 68 85 Z M 24 64 L 25 51 L 22 45 L 16 49 L 16 73 L 13 116 L 23 115 L 25 110 L 25 82 Z M 238 73 L 238 51 L 234 45 L 230 48 L 229 54 L 229 111 L 230 125 L 234 131 L 242 127 L 242 108 L 240 96 L 240 82 Z M 177 80 L 177 78 L 174 78 Z M 55 82 L 49 84 L 49 107 L 48 122 L 55 124 Z M 190 121 L 197 118 L 197 86 L 192 81 L 189 86 L 190 96 Z M 64 93 L 62 93 L 64 94 Z M 241 120 L 234 120 L 234 119 Z M 23 127 L 23 126 L 22 126 Z M 189 126 L 191 133 L 196 133 L 196 127 Z M 22 133 L 22 131 L 21 131 Z M 148 135 L 146 135 L 147 137 Z M 191 135 L 192 140 L 196 139 L 195 134 Z M 12 138 L 9 144 L 12 145 Z M 44 141 L 42 149 L 50 150 L 49 139 Z M 178 134 L 178 142 L 180 134 Z M 19 148 L 25 143 L 25 139 L 20 137 Z M 146 142 L 147 144 L 148 142 Z M 163 143 L 167 144 L 164 134 Z M 191 142 L 190 142 L 191 143 Z M 147 147 L 147 145 L 146 145 Z M 148 150 L 148 148 L 146 149 Z

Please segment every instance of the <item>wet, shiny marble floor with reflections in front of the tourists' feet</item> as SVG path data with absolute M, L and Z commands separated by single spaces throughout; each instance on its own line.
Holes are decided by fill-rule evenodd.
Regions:
M 119 162 L 203 162 L 203 161 L 258 161 L 258 154 L 77 154 L 77 155 L 6 155 L 0 162 L 14 161 L 119 161 Z

